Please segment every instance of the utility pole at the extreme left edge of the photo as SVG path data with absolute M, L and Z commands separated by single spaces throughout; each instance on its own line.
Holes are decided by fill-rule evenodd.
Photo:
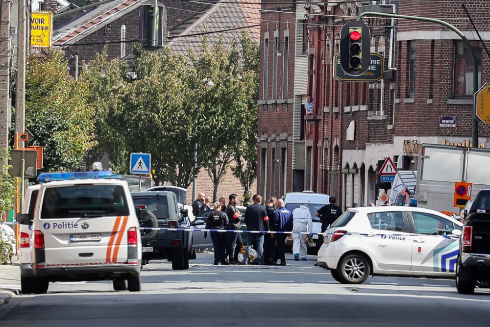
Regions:
M 10 57 L 10 0 L 2 0 L 0 2 L 0 149 L 8 147 Z M 0 164 L 3 164 L 1 159 Z

